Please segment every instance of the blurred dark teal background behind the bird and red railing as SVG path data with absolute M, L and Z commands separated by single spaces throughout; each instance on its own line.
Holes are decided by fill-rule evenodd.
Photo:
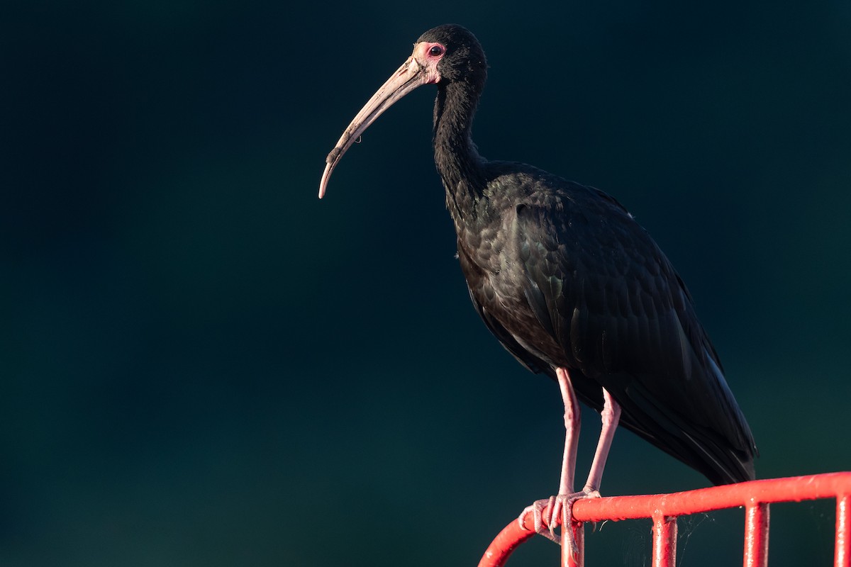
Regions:
M 82 2 L 0 14 L 0 563 L 472 565 L 557 488 L 557 387 L 471 308 L 433 88 L 328 150 L 423 31 L 477 34 L 474 137 L 616 196 L 760 478 L 851 469 L 851 4 Z M 585 412 L 578 477 L 597 439 Z M 604 495 L 707 483 L 633 434 Z M 679 564 L 741 561 L 739 510 Z M 833 502 L 773 508 L 829 564 Z M 588 564 L 647 564 L 650 524 Z M 540 540 L 540 541 L 539 541 Z M 556 564 L 543 538 L 511 564 Z

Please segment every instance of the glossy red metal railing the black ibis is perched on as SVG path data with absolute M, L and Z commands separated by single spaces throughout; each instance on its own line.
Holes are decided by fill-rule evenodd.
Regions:
M 603 520 L 653 520 L 653 567 L 674 567 L 677 560 L 677 517 L 745 507 L 745 567 L 768 565 L 768 504 L 836 498 L 837 522 L 833 551 L 834 567 L 851 567 L 851 472 L 825 473 L 788 479 L 752 480 L 738 485 L 713 486 L 654 496 L 589 498 L 574 503 L 574 530 L 579 547 L 571 557 L 563 538 L 563 567 L 585 564 L 583 522 Z M 534 536 L 531 514 L 523 528 L 517 520 L 505 526 L 484 553 L 479 567 L 502 567 L 523 541 Z

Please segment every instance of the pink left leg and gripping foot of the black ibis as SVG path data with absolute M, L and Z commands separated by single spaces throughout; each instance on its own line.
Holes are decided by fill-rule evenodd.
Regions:
M 531 506 L 525 507 L 520 513 L 518 521 L 523 526 L 526 514 L 532 513 L 534 518 L 534 530 L 541 536 L 548 537 L 558 543 L 560 538 L 556 536 L 553 519 L 558 518 L 558 513 L 563 509 L 565 502 L 570 496 L 574 496 L 574 473 L 576 470 L 576 451 L 579 448 L 580 439 L 580 404 L 576 400 L 574 387 L 570 383 L 570 376 L 566 368 L 556 369 L 558 388 L 562 392 L 564 402 L 564 453 L 562 456 L 562 476 L 558 483 L 558 496 L 550 496 L 545 500 L 538 500 Z M 605 462 L 605 459 L 603 459 Z M 585 496 L 584 493 L 576 493 L 576 496 Z M 569 509 L 569 507 L 568 507 Z M 546 524 L 549 530 L 544 529 L 544 510 L 546 510 Z M 570 530 L 569 523 L 564 529 Z

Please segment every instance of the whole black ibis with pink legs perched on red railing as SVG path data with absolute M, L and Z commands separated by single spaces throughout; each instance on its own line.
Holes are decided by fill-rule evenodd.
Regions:
M 547 535 L 547 503 L 547 523 L 561 511 L 568 525 L 576 498 L 599 496 L 619 420 L 713 484 L 753 479 L 751 429 L 686 286 L 648 233 L 601 190 L 478 154 L 471 125 L 487 67 L 465 28 L 426 31 L 328 154 L 319 197 L 382 112 L 414 88 L 437 84 L 434 159 L 473 305 L 523 366 L 557 381 L 564 401 L 558 496 L 535 502 L 521 520 L 534 513 Z M 587 482 L 574 492 L 577 398 L 602 413 L 603 428 Z

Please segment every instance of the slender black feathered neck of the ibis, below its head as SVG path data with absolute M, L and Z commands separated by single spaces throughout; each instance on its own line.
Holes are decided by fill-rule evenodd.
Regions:
M 434 106 L 434 162 L 446 189 L 455 224 L 474 222 L 487 184 L 485 160 L 470 137 L 478 94 L 469 84 L 437 88 Z

